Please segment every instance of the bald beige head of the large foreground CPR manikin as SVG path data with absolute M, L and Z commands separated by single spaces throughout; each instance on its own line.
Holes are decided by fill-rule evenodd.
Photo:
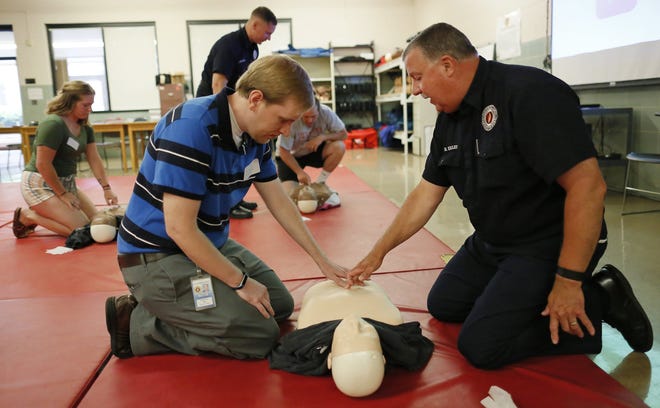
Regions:
M 349 315 L 335 329 L 328 368 L 341 392 L 349 397 L 371 395 L 383 382 L 385 357 L 374 326 Z

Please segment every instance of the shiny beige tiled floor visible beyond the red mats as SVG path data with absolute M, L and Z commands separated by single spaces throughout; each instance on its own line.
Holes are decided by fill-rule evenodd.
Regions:
M 20 181 L 22 161 L 17 152 L 0 151 L 2 182 Z M 9 158 L 9 163 L 7 162 Z M 343 160 L 366 183 L 400 206 L 407 194 L 419 182 L 424 158 L 403 155 L 388 149 L 349 150 Z M 118 160 L 110 161 L 111 174 L 121 174 Z M 82 165 L 82 168 L 87 168 Z M 88 173 L 81 176 L 89 176 Z M 328 179 L 332 185 L 332 176 Z M 341 192 L 340 192 L 341 194 Z M 624 271 L 635 293 L 645 307 L 656 333 L 660 333 L 660 212 L 622 217 L 621 194 L 607 195 L 606 219 L 609 247 L 601 265 L 610 263 Z M 628 210 L 660 208 L 660 202 L 631 197 Z M 453 249 L 472 232 L 465 209 L 453 190 L 426 225 L 426 228 Z M 347 265 L 348 266 L 348 265 Z M 660 407 L 660 342 L 646 353 L 631 352 L 625 340 L 609 326 L 603 329 L 603 352 L 593 356 L 603 370 L 642 398 L 649 406 Z M 655 371 L 655 374 L 654 374 Z

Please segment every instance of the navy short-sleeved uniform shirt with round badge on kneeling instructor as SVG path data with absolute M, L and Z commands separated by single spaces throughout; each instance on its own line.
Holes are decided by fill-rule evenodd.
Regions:
M 456 189 L 487 243 L 556 256 L 566 194 L 555 180 L 595 155 L 568 85 L 480 58 L 458 110 L 438 116 L 423 177 Z

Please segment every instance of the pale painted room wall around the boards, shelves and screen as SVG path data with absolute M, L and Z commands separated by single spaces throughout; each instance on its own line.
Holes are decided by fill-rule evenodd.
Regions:
M 106 2 L 96 7 L 75 7 L 67 2 L 49 0 L 5 0 L 0 3 L 0 23 L 12 24 L 19 46 L 19 75 L 36 78 L 42 87 L 44 100 L 37 105 L 24 104 L 25 120 L 43 117 L 46 101 L 52 98 L 48 48 L 45 23 L 84 23 L 90 21 L 156 21 L 159 40 L 159 62 L 161 72 L 189 72 L 187 67 L 187 35 L 185 21 L 209 18 L 245 18 L 254 5 L 228 1 L 198 0 L 195 6 L 162 8 L 159 0 L 145 0 L 136 4 L 130 0 Z M 321 9 L 310 9 L 304 0 L 274 0 L 269 7 L 277 10 L 278 16 L 293 19 L 294 41 L 297 47 L 350 45 L 373 40 L 376 57 L 390 52 L 395 46 L 404 46 L 410 34 L 438 21 L 456 25 L 475 45 L 494 43 L 497 19 L 515 10 L 522 17 L 521 48 L 518 58 L 503 61 L 535 67 L 543 66 L 548 54 L 550 31 L 549 4 L 547 0 L 361 0 L 320 5 Z M 126 5 L 130 7 L 127 17 Z M 130 6 L 129 6 L 130 5 Z M 203 7 L 202 7 L 203 6 Z M 27 9 L 29 7 L 29 10 Z M 19 10 L 19 11 L 16 11 Z M 29 12 L 28 12 L 29 11 Z M 318 16 L 323 16 L 319 20 Z M 319 21 L 335 24 L 319 30 Z M 356 23 L 356 22 L 359 22 Z M 32 85 L 35 86 L 35 85 Z M 23 85 L 24 101 L 27 100 Z M 615 87 L 577 92 L 582 103 L 598 103 L 604 107 L 630 107 L 633 109 L 632 150 L 660 153 L 660 85 L 640 87 Z M 96 116 L 96 114 L 94 114 Z M 121 113 L 122 117 L 145 117 L 148 112 Z M 101 115 L 99 115 L 101 116 Z M 119 116 L 118 113 L 103 116 Z M 101 118 L 99 118 L 101 119 Z M 633 169 L 632 181 L 645 189 L 660 190 L 660 166 L 644 166 Z M 604 169 L 608 184 L 613 188 L 622 184 L 621 169 Z

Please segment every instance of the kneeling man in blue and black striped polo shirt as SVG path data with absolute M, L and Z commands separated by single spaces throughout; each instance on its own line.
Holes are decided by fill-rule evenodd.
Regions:
M 345 286 L 277 178 L 269 141 L 314 103 L 289 57 L 250 65 L 236 91 L 190 100 L 150 140 L 119 229 L 130 295 L 106 301 L 113 354 L 218 353 L 264 358 L 293 299 L 275 272 L 228 238 L 229 212 L 254 183 L 274 217 L 322 274 Z

